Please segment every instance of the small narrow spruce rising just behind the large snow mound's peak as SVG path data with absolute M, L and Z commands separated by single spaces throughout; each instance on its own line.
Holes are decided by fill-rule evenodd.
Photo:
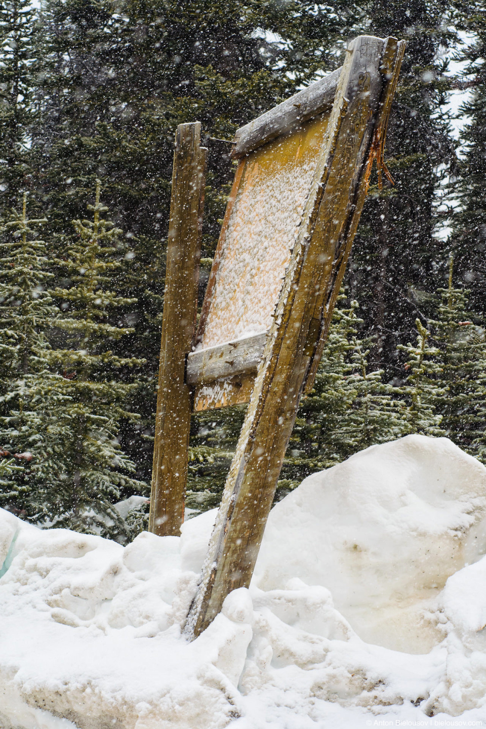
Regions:
M 445 432 L 440 428 L 442 415 L 437 412 L 439 398 L 446 394 L 442 382 L 444 369 L 441 364 L 442 352 L 429 343 L 431 333 L 423 327 L 420 319 L 416 319 L 418 329 L 417 343 L 399 345 L 407 354 L 407 380 L 402 391 L 409 402 L 407 421 L 410 433 L 441 436 Z M 438 361 L 437 361 L 438 360 Z

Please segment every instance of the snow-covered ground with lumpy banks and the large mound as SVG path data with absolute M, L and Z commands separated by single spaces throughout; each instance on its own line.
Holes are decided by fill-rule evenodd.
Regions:
M 486 725 L 485 467 L 408 436 L 307 478 L 187 643 L 214 516 L 121 547 L 0 510 L 0 727 Z

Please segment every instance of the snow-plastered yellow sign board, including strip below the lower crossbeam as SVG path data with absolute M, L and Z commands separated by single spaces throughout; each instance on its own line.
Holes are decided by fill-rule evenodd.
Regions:
M 198 349 L 270 329 L 328 119 L 329 112 L 320 114 L 240 161 Z M 195 410 L 247 398 L 244 386 L 206 384 Z

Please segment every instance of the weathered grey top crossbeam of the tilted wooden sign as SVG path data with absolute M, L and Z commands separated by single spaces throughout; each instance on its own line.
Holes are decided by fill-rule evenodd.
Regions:
M 294 129 L 312 117 L 326 112 L 334 103 L 341 69 L 332 71 L 278 106 L 240 127 L 233 139 L 232 157 L 245 157 L 267 141 Z

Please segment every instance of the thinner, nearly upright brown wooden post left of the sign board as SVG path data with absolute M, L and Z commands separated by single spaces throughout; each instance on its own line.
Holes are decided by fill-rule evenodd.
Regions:
M 200 122 L 180 124 L 174 151 L 149 531 L 179 536 L 184 521 L 191 392 L 184 382 L 197 313 L 205 159 Z

